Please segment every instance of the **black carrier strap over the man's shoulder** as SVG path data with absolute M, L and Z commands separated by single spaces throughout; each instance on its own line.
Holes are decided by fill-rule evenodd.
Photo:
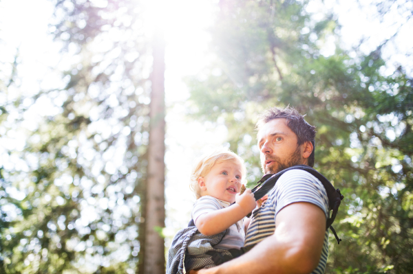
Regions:
M 334 233 L 335 235 L 337 242 L 340 244 L 341 239 L 339 239 L 337 233 L 335 232 L 335 229 L 333 229 L 331 225 L 332 222 L 334 222 L 335 217 L 337 216 L 341 200 L 343 200 L 344 196 L 341 195 L 340 190 L 338 188 L 336 190 L 334 186 L 330 183 L 330 181 L 328 181 L 326 177 L 324 177 L 314 168 L 310 168 L 310 166 L 308 165 L 293 165 L 292 167 L 286 168 L 285 170 L 282 170 L 276 174 L 264 175 L 262 179 L 257 182 L 257 185 L 252 190 L 255 197 L 255 201 L 259 200 L 265 194 L 267 194 L 274 187 L 275 183 L 277 183 L 279 177 L 282 176 L 282 174 L 284 174 L 288 170 L 305 170 L 306 172 L 309 172 L 317 179 L 319 179 L 319 181 L 324 185 L 324 188 L 326 189 L 328 196 L 328 210 L 332 210 L 330 218 L 327 219 L 326 229 L 330 227 L 332 233 Z

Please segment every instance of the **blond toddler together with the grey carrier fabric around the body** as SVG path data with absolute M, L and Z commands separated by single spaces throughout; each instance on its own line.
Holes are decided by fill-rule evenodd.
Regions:
M 243 218 L 256 206 L 251 190 L 239 194 L 245 175 L 244 161 L 226 148 L 202 157 L 195 165 L 191 189 L 197 201 L 191 218 L 196 228 L 191 229 L 190 225 L 173 239 L 167 273 L 181 273 L 183 258 L 184 269 L 189 272 L 215 266 L 207 251 L 228 253 L 229 249 L 244 247 Z M 176 260 L 179 253 L 181 262 Z

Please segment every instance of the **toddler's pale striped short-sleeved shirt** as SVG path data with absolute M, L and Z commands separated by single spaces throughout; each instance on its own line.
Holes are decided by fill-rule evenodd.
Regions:
M 231 203 L 222 201 L 212 196 L 202 196 L 194 204 L 192 209 L 192 220 L 196 222 L 199 216 L 215 210 L 223 209 L 229 207 Z M 244 233 L 244 222 L 239 220 L 235 224 L 231 225 L 229 229 L 226 229 L 224 238 L 221 242 L 216 244 L 215 249 L 240 249 L 244 247 L 245 233 Z

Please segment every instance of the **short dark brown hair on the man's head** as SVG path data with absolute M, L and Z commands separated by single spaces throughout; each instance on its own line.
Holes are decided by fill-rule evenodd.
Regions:
M 305 141 L 310 141 L 313 144 L 313 152 L 311 152 L 310 157 L 308 157 L 308 165 L 310 167 L 314 166 L 315 160 L 315 126 L 311 126 L 304 119 L 305 115 L 299 114 L 299 112 L 290 107 L 286 106 L 284 109 L 279 109 L 273 107 L 267 109 L 260 115 L 260 119 L 257 122 L 257 130 L 260 130 L 264 124 L 270 122 L 273 119 L 284 118 L 287 120 L 287 126 L 290 130 L 293 130 L 293 133 L 297 135 L 297 146 L 304 144 Z

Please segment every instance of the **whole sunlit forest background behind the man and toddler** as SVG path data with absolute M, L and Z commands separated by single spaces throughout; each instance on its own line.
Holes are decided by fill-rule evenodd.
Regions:
M 0 273 L 162 273 L 193 161 L 228 146 L 253 186 L 257 115 L 288 104 L 345 196 L 326 272 L 410 273 L 413 1 L 193 2 L 0 1 Z

